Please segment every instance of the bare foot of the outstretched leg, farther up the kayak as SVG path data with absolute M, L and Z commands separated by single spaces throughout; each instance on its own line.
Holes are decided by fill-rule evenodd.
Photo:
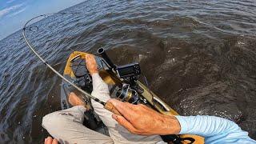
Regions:
M 86 54 L 86 67 L 89 70 L 90 75 L 98 73 L 97 62 L 92 54 Z

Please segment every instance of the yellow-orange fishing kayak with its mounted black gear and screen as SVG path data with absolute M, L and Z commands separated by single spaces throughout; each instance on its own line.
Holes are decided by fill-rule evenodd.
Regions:
M 74 82 L 74 84 L 82 90 L 91 93 L 93 90 L 92 79 L 88 70 L 86 70 L 86 54 L 87 53 L 81 51 L 74 51 L 70 54 L 70 57 L 66 61 L 63 76 L 70 80 L 70 82 Z M 148 86 L 143 85 L 142 82 L 139 82 L 138 79 L 136 79 L 136 74 L 139 73 L 138 64 L 117 67 L 110 62 L 110 58 L 106 56 L 104 51 L 102 56 L 103 58 L 95 56 L 95 59 L 98 65 L 99 75 L 109 86 L 111 98 L 118 98 L 123 102 L 130 102 L 134 104 L 142 103 L 154 110 L 157 110 L 161 114 L 178 115 L 175 110 L 163 102 L 161 98 L 154 94 L 154 92 L 149 90 Z M 104 126 L 98 115 L 94 113 L 93 107 L 90 103 L 90 98 L 82 96 L 81 93 L 64 80 L 62 80 L 61 86 L 62 110 L 71 107 L 68 102 L 68 95 L 72 91 L 78 94 L 78 96 L 86 102 L 87 111 L 85 112 L 84 125 L 91 130 L 109 135 L 107 127 Z M 162 138 L 166 138 L 168 142 L 173 143 L 204 143 L 204 138 L 191 134 L 170 135 L 169 138 L 162 136 Z M 174 142 L 175 139 L 178 138 L 182 139 L 182 142 Z

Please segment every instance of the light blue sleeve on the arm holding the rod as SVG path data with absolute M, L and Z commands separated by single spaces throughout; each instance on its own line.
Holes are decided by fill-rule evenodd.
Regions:
M 181 125 L 179 134 L 196 134 L 206 143 L 256 143 L 234 122 L 214 116 L 175 116 Z

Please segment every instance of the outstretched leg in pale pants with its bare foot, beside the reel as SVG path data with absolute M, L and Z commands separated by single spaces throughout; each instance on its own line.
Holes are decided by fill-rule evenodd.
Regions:
M 86 66 L 90 71 L 90 68 L 95 68 L 96 62 L 94 57 L 86 57 Z M 96 71 L 96 72 L 95 72 Z M 106 102 L 110 99 L 110 92 L 108 90 L 108 86 L 105 82 L 102 81 L 102 78 L 98 75 L 98 70 L 94 70 L 94 73 L 90 73 L 93 78 L 93 92 L 92 95 L 95 98 Z M 91 100 L 92 106 L 94 107 L 94 111 L 99 115 L 102 119 L 102 122 L 108 127 L 110 132 L 110 137 L 113 139 L 115 143 L 156 143 L 161 142 L 162 138 L 158 135 L 153 136 L 142 136 L 137 134 L 131 134 L 124 127 L 118 125 L 112 118 L 112 113 L 108 110 L 105 110 L 102 104 Z

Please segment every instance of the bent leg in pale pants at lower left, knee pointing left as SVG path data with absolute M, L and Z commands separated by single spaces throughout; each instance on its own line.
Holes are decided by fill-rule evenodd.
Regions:
M 61 143 L 114 143 L 110 137 L 82 125 L 84 106 L 56 111 L 42 118 L 42 126 Z

